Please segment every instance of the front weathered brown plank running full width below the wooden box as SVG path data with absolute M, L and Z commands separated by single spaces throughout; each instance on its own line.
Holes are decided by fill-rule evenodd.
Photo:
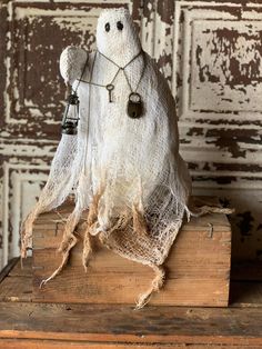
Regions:
M 8 315 L 8 316 L 7 316 Z M 259 346 L 260 308 L 1 303 L 0 338 Z

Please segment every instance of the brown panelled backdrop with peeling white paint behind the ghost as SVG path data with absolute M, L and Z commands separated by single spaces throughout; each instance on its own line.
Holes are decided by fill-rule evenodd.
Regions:
M 262 258 L 262 1 L 0 2 L 0 267 L 47 180 L 60 138 L 68 44 L 95 47 L 103 8 L 129 7 L 177 99 L 194 193 L 236 208 L 233 259 Z

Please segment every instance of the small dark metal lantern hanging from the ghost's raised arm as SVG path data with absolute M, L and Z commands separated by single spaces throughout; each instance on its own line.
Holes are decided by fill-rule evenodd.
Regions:
M 62 133 L 77 134 L 79 120 L 79 98 L 74 92 L 68 97 L 68 103 L 63 113 Z

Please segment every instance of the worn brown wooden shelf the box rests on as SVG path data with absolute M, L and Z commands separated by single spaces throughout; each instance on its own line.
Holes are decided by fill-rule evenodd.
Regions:
M 12 260 L 0 280 L 0 348 L 262 348 L 261 280 L 232 280 L 228 308 L 139 311 L 127 305 L 36 303 L 30 258 L 22 270 Z

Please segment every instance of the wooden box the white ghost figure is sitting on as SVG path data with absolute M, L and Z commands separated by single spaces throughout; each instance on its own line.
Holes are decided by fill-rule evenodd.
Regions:
M 105 249 L 94 238 L 88 272 L 81 261 L 82 236 L 63 271 L 43 288 L 42 279 L 60 265 L 57 248 L 62 239 L 63 218 L 72 206 L 41 215 L 33 231 L 33 301 L 130 303 L 145 291 L 153 278 L 147 266 Z M 151 305 L 222 307 L 229 302 L 231 227 L 224 215 L 206 215 L 184 223 L 165 261 L 164 288 Z

